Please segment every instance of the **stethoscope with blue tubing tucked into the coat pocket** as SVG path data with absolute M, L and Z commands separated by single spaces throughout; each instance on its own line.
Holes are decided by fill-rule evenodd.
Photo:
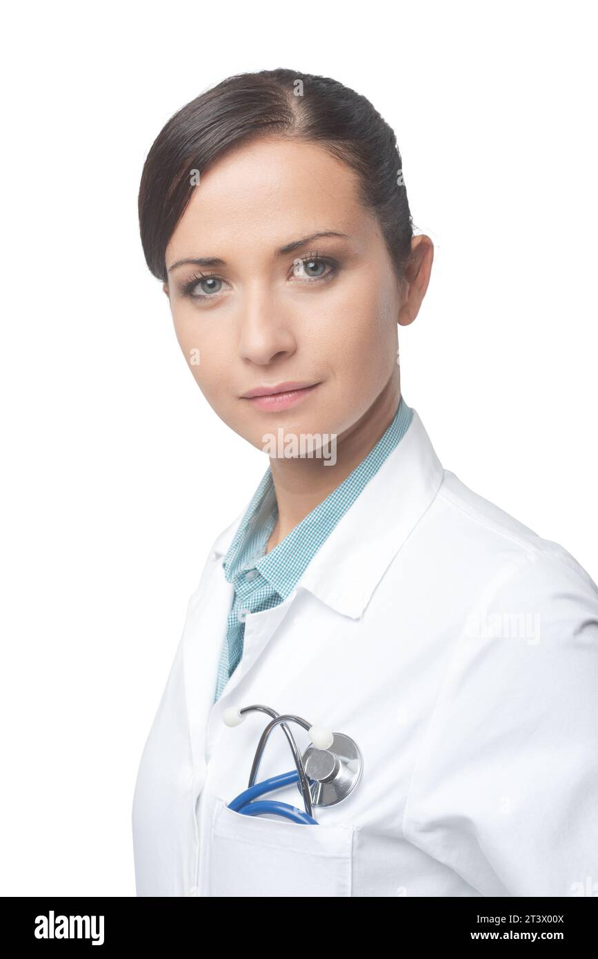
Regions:
M 263 816 L 267 813 L 285 816 L 295 823 L 305 823 L 317 826 L 313 818 L 314 806 L 334 806 L 346 799 L 355 789 L 361 775 L 363 761 L 357 743 L 351 737 L 342 733 L 331 733 L 320 726 L 312 726 L 301 716 L 291 714 L 280 715 L 267 706 L 245 706 L 239 709 L 231 706 L 222 713 L 222 719 L 227 726 L 239 726 L 247 713 L 266 713 L 271 721 L 265 727 L 260 737 L 258 748 L 251 766 L 247 788 L 235 797 L 228 808 L 235 812 L 242 812 L 247 816 Z M 311 745 L 303 756 L 299 753 L 297 743 L 290 732 L 287 723 L 296 722 L 307 730 Z M 280 776 L 271 776 L 263 783 L 256 783 L 260 762 L 264 754 L 265 744 L 273 729 L 281 726 L 288 739 L 288 745 L 295 760 L 295 768 Z M 263 796 L 274 789 L 297 784 L 303 796 L 305 812 L 288 803 L 276 800 L 262 800 L 255 802 L 258 796 Z

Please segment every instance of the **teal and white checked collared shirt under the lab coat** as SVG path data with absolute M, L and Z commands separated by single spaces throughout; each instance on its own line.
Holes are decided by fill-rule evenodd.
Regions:
M 374 449 L 278 546 L 266 553 L 278 518 L 276 492 L 268 466 L 222 560 L 226 579 L 235 587 L 235 598 L 222 643 L 215 702 L 241 661 L 246 614 L 277 606 L 289 596 L 334 526 L 402 439 L 412 416 L 413 410 L 402 397 L 392 423 Z

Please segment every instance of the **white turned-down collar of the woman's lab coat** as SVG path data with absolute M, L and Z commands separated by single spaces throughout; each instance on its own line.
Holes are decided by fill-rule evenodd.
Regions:
M 442 483 L 444 471 L 416 409 L 401 442 L 382 462 L 355 503 L 334 526 L 299 579 L 336 612 L 359 619 L 382 575 L 417 526 Z M 242 514 L 214 543 L 221 561 Z

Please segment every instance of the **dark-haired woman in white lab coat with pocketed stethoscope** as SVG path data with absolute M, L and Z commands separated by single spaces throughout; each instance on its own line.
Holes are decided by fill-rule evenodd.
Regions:
M 135 785 L 137 894 L 587 895 L 598 590 L 443 469 L 401 395 L 433 247 L 392 129 L 327 78 L 229 78 L 159 133 L 139 214 L 197 386 L 269 467 L 189 602 Z M 357 743 L 317 825 L 228 806 L 269 716 L 223 717 L 255 704 Z M 275 729 L 259 781 L 292 768 Z M 297 784 L 270 798 L 303 808 Z

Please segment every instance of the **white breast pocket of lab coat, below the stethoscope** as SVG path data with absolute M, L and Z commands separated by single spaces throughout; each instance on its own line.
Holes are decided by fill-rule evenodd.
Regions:
M 217 797 L 210 896 L 351 896 L 354 831 L 246 816 Z

